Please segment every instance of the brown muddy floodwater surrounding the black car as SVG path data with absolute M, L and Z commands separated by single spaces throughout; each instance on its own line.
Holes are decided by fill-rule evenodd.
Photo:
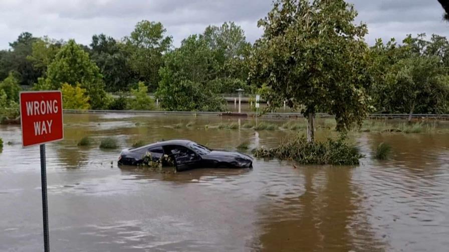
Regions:
M 430 133 L 350 133 L 366 155 L 355 167 L 256 160 L 254 169 L 164 174 L 117 167 L 120 150 L 100 150 L 100 140 L 125 148 L 182 137 L 235 149 L 275 146 L 296 132 L 206 128 L 238 120 L 213 115 L 64 120 L 65 140 L 47 144 L 52 251 L 448 250 L 447 122 Z M 92 146 L 77 146 L 84 135 Z M 19 126 L 0 126 L 0 137 L 0 251 L 42 251 L 39 148 L 22 148 Z M 380 142 L 392 145 L 387 161 L 372 158 Z

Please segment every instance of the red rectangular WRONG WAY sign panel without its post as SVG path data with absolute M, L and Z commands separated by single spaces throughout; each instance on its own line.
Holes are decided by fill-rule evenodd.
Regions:
M 61 91 L 20 93 L 23 146 L 64 138 Z

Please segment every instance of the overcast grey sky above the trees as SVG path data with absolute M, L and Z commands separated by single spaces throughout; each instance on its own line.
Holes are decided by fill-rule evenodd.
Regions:
M 349 0 L 368 24 L 366 40 L 401 40 L 407 33 L 449 36 L 437 0 Z M 257 21 L 271 9 L 272 0 L 0 0 L 0 49 L 9 47 L 22 31 L 35 36 L 75 38 L 89 44 L 93 34 L 121 38 L 142 19 L 160 21 L 174 45 L 209 24 L 235 21 L 254 42 L 262 30 Z

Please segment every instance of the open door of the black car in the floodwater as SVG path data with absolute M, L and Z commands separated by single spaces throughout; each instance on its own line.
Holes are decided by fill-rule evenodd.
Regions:
M 193 150 L 182 145 L 164 146 L 164 151 L 174 159 L 178 171 L 195 168 L 201 160 L 201 157 Z

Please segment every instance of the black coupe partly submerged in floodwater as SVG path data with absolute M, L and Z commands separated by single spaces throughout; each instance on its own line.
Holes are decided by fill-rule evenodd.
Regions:
M 122 150 L 118 160 L 123 165 L 140 165 L 145 156 L 152 160 L 164 160 L 169 166 L 171 160 L 177 171 L 194 168 L 252 168 L 253 158 L 249 155 L 225 150 L 212 150 L 190 140 L 160 141 L 143 147 Z M 167 158 L 163 158 L 167 157 Z

